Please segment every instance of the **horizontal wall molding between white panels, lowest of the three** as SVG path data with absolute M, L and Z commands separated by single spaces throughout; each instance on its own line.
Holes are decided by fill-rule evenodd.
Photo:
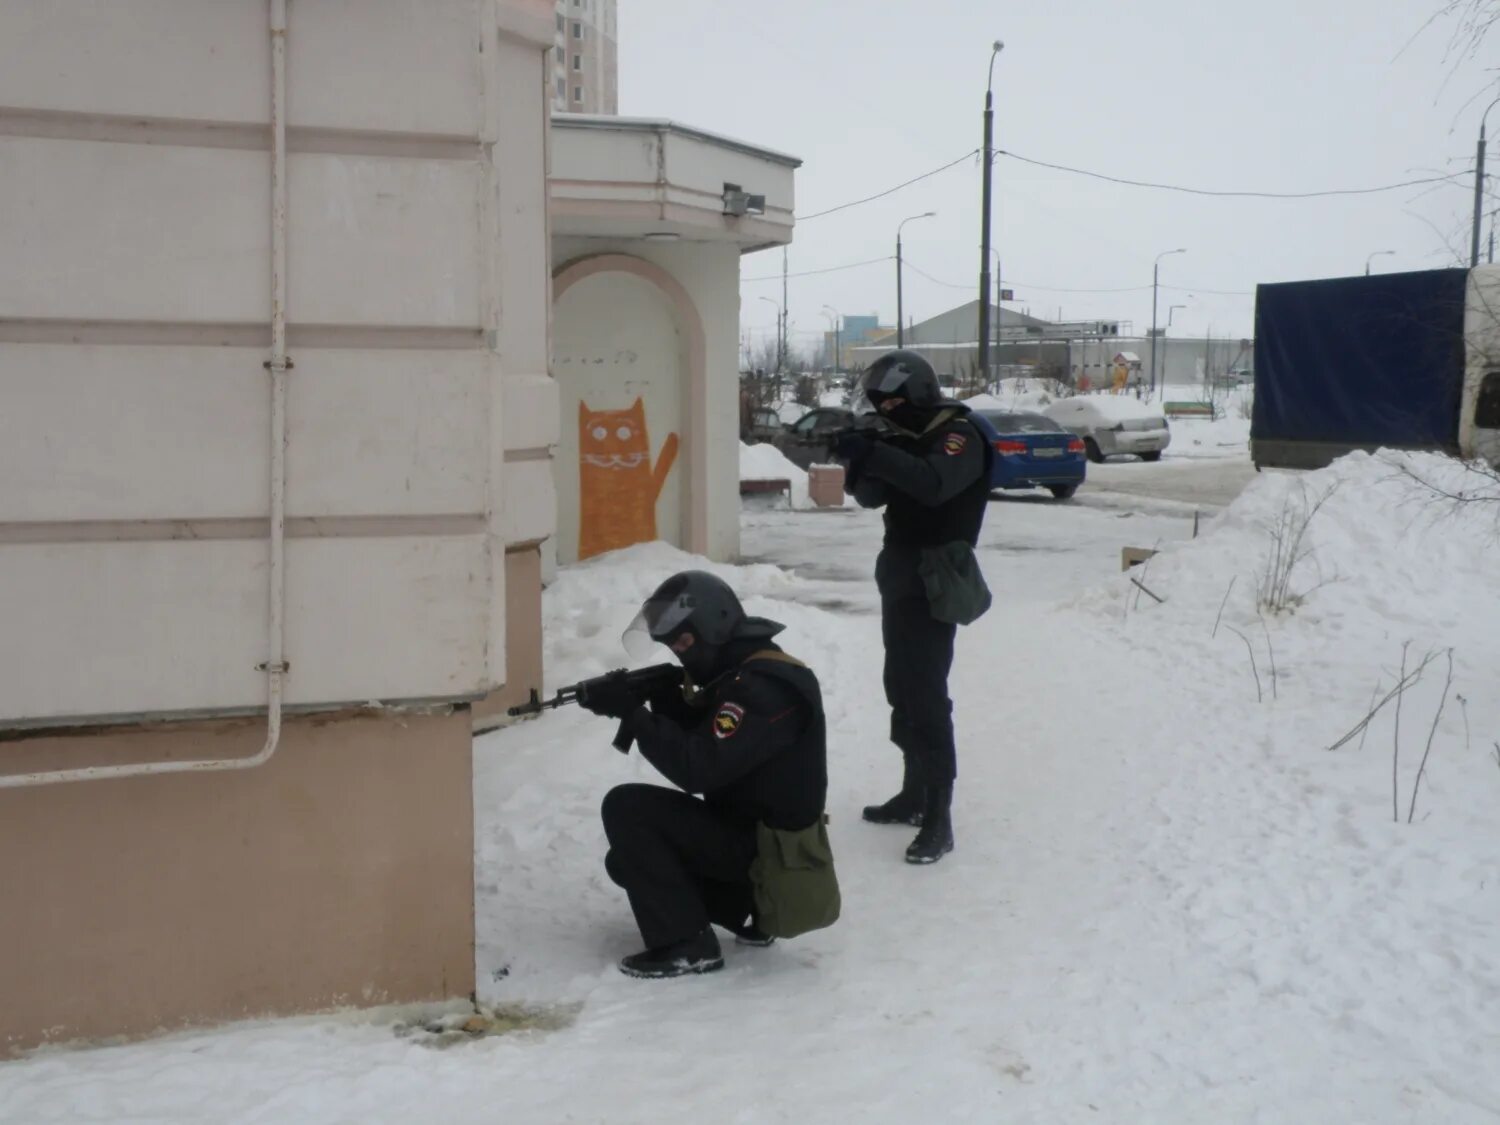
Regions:
M 484 536 L 483 514 L 294 516 L 286 538 L 412 538 Z M 172 540 L 261 540 L 268 519 L 87 519 L 0 524 L 0 546 L 22 543 L 162 543 Z

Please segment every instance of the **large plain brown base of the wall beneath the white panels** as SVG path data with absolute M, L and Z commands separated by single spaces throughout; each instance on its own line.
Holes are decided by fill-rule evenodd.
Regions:
M 252 754 L 262 720 L 0 742 L 0 771 Z M 474 988 L 466 710 L 290 720 L 258 770 L 0 790 L 0 1056 Z

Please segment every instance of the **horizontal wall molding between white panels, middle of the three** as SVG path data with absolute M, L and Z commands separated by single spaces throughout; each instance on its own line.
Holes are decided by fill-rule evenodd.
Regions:
M 270 348 L 270 324 L 104 321 L 0 316 L 0 344 L 102 344 L 108 346 Z M 422 324 L 288 324 L 290 348 L 476 351 L 480 327 Z

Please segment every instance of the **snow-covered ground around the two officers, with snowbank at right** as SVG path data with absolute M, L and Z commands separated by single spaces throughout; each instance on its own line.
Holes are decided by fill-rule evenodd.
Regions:
M 1492 1122 L 1500 506 L 1398 464 L 1460 480 L 1428 456 L 1268 472 L 1197 540 L 1168 510 L 992 506 L 996 609 L 952 676 L 958 849 L 932 868 L 858 818 L 897 778 L 876 513 L 750 514 L 765 561 L 714 568 L 824 680 L 836 927 L 621 976 L 639 939 L 597 806 L 652 774 L 560 712 L 476 747 L 480 998 L 552 1029 L 436 1050 L 358 1016 L 57 1052 L 0 1065 L 0 1120 Z M 1320 500 L 1293 604 L 1257 612 L 1272 530 Z M 1132 572 L 1162 603 L 1119 574 L 1125 544 L 1162 548 Z M 554 686 L 622 660 L 686 564 L 651 544 L 564 570 Z M 1392 704 L 1330 750 L 1402 654 L 1434 660 L 1400 735 Z

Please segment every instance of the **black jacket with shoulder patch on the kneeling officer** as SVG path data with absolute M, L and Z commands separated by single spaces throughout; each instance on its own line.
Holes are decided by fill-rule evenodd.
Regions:
M 747 828 L 807 828 L 828 795 L 818 676 L 770 642 L 754 648 L 693 704 L 652 699 L 627 720 L 630 734 L 669 782 Z

